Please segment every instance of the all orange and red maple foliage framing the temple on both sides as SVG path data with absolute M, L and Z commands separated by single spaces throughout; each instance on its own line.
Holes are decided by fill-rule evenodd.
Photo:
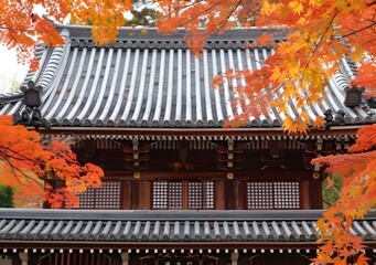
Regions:
M 21 61 L 26 61 L 31 56 L 36 41 L 52 45 L 63 43 L 51 23 L 33 13 L 36 4 L 44 7 L 46 13 L 57 22 L 64 21 L 68 15 L 75 23 L 93 22 L 93 36 L 99 44 L 115 40 L 117 26 L 125 23 L 122 13 L 130 10 L 132 4 L 130 0 L 2 1 L 0 21 L 3 30 L 0 31 L 0 41 L 8 46 L 17 46 Z M 265 61 L 262 67 L 237 73 L 228 70 L 224 76 L 214 80 L 216 86 L 219 86 L 226 78 L 244 81 L 241 85 L 235 87 L 239 95 L 235 98 L 235 103 L 245 106 L 245 112 L 235 120 L 229 120 L 228 126 L 238 126 L 249 115 L 257 116 L 266 112 L 271 103 L 287 116 L 283 128 L 289 134 L 305 134 L 311 126 L 322 127 L 325 120 L 322 117 L 311 120 L 304 109 L 305 106 L 324 98 L 324 87 L 339 71 L 341 66 L 339 62 L 343 57 L 353 60 L 355 63 L 362 62 L 356 78 L 350 81 L 352 86 L 366 86 L 370 96 L 375 93 L 375 0 L 150 1 L 161 11 L 159 29 L 165 33 L 172 33 L 179 26 L 185 28 L 190 32 L 185 41 L 197 55 L 204 49 L 205 40 L 211 34 L 221 33 L 238 24 L 249 26 L 257 23 L 259 26 L 284 29 L 287 34 L 284 42 L 276 43 L 272 36 L 262 35 L 258 41 L 250 43 L 250 45 L 273 47 L 273 54 Z M 35 60 L 32 60 L 32 67 L 36 67 Z M 288 108 L 291 104 L 300 110 L 300 116 L 291 115 Z M 3 123 L 6 121 L 0 124 Z M 375 128 L 364 127 L 359 135 L 357 144 L 351 149 L 355 153 L 320 158 L 314 161 L 329 162 L 331 165 L 329 171 L 339 171 L 346 177 L 339 203 L 331 208 L 324 219 L 319 222 L 319 229 L 323 235 L 320 242 L 325 244 L 321 247 L 315 264 L 346 264 L 347 262 L 366 264 L 364 254 L 359 252 L 361 240 L 351 236 L 350 226 L 354 218 L 363 218 L 375 205 L 376 151 L 372 149 L 376 138 Z M 31 141 L 37 142 L 37 136 L 33 135 Z M 11 142 L 2 145 L 9 147 Z M 18 151 L 24 151 L 24 149 Z M 64 179 L 68 187 L 74 187 L 73 190 L 84 189 L 85 186 L 79 184 L 82 176 L 78 174 L 78 178 L 75 173 L 72 176 L 64 173 L 66 167 L 69 166 L 61 168 L 61 163 L 57 162 L 58 156 L 63 156 L 68 165 L 77 166 L 66 147 L 53 144 L 51 150 L 37 147 L 35 150 L 25 151 L 28 155 L 23 156 L 28 159 L 12 160 L 14 163 L 20 163 L 13 165 L 14 168 L 32 168 L 40 177 L 54 172 L 57 178 Z M 29 156 L 29 152 L 36 156 L 39 151 L 52 155 Z M 31 157 L 42 162 L 42 167 L 37 166 L 39 163 L 26 163 Z M 82 169 L 74 168 L 74 171 Z M 84 170 L 96 171 L 92 167 Z M 14 174 L 21 182 L 24 181 L 23 179 L 29 180 L 18 171 Z M 21 177 L 23 179 L 20 179 Z M 351 261 L 351 257 L 354 259 Z

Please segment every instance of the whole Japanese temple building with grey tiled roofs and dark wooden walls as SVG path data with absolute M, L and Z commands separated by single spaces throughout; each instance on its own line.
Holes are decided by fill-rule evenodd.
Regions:
M 283 31 L 229 30 L 197 59 L 183 31 L 125 28 L 116 43 L 98 46 L 89 26 L 55 26 L 66 44 L 37 46 L 40 70 L 23 92 L 0 95 L 0 115 L 46 139 L 69 138 L 79 161 L 100 166 L 105 178 L 73 209 L 1 209 L 1 265 L 311 263 L 325 173 L 310 161 L 344 152 L 358 128 L 376 121 L 362 91 L 348 91 L 353 62 L 343 59 L 325 99 L 305 106 L 310 119 L 332 119 L 330 128 L 287 135 L 273 108 L 223 128 L 244 112 L 233 104 L 244 81 L 214 89 L 213 77 L 260 68 L 273 49 L 248 44 L 265 32 L 281 42 Z M 288 108 L 299 116 L 293 103 Z M 376 213 L 352 232 L 375 263 Z

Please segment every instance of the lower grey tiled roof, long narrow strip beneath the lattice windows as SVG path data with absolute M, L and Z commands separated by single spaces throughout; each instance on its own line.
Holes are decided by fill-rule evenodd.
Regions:
M 0 241 L 312 242 L 323 212 L 0 209 Z M 352 232 L 376 240 L 376 214 Z

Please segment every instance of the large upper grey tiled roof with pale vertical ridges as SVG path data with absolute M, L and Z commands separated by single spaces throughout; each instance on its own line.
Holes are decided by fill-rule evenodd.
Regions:
M 120 30 L 118 41 L 96 46 L 88 26 L 57 26 L 67 41 L 63 47 L 39 46 L 41 70 L 31 73 L 43 87 L 42 116 L 53 126 L 121 127 L 222 127 L 227 117 L 241 114 L 234 107 L 234 83 L 213 89 L 213 76 L 228 68 L 256 70 L 273 53 L 270 46 L 245 47 L 266 32 L 262 29 L 230 30 L 214 35 L 201 59 L 183 43 L 184 32 L 162 35 L 154 29 Z M 270 33 L 270 32 L 269 32 Z M 284 35 L 271 31 L 277 41 Z M 326 109 L 345 110 L 344 124 L 372 123 L 362 107 L 344 106 L 344 88 L 354 76 L 354 65 L 342 61 L 342 72 L 326 86 L 322 104 L 307 106 L 312 120 Z M 0 95 L 0 115 L 23 108 L 21 94 Z M 290 115 L 298 115 L 292 104 Z M 249 118 L 250 127 L 280 127 L 276 109 Z

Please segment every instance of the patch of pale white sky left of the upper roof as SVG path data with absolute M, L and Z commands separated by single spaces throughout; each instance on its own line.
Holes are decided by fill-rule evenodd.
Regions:
M 0 46 L 0 94 L 9 92 L 14 81 L 22 82 L 28 72 L 28 66 L 17 63 L 15 50 Z

